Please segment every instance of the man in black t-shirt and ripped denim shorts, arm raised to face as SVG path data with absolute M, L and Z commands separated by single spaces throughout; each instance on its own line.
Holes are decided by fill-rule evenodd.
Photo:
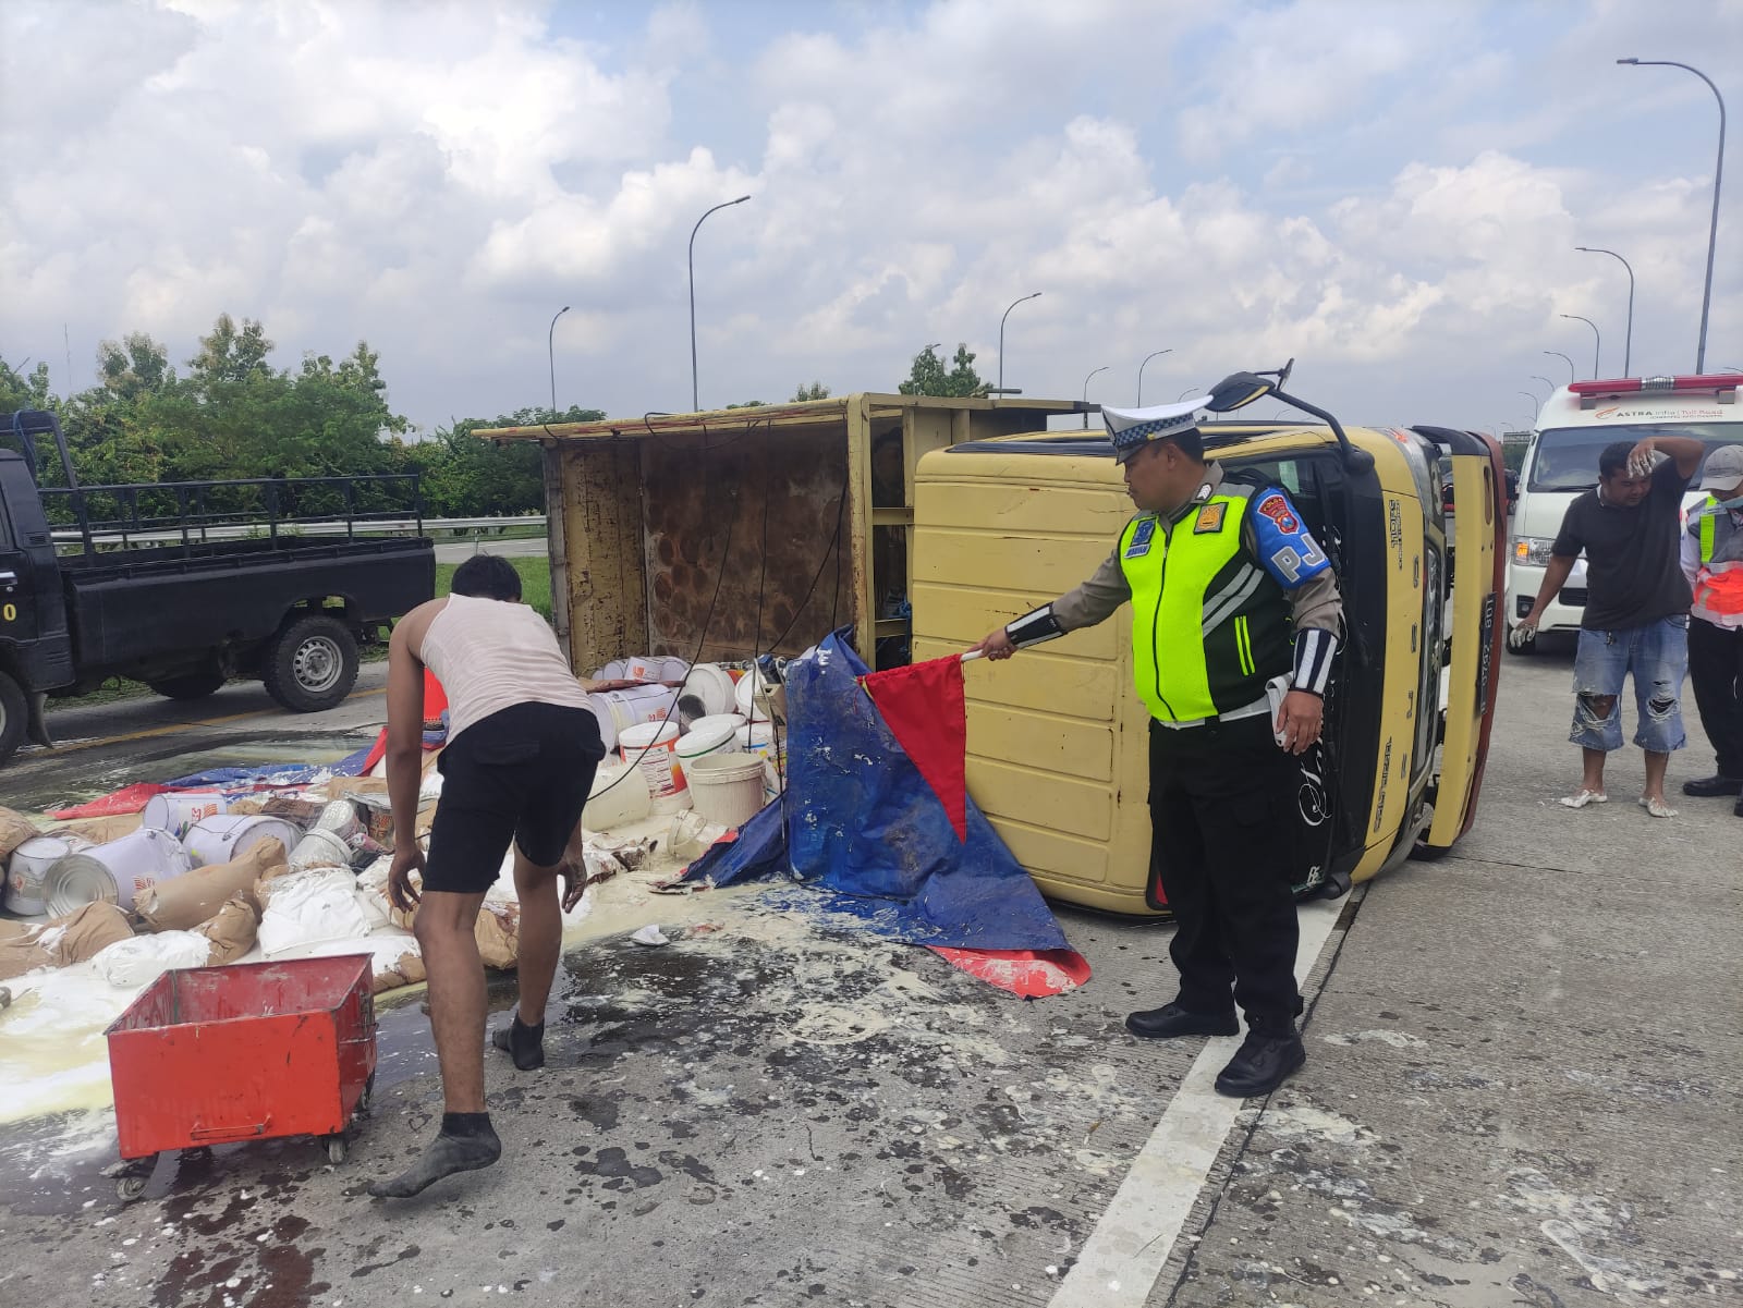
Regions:
M 1665 803 L 1670 751 L 1682 749 L 1682 678 L 1689 671 L 1689 580 L 1679 563 L 1682 493 L 1701 463 L 1699 441 L 1680 435 L 1618 441 L 1598 456 L 1598 486 L 1567 507 L 1562 531 L 1550 547 L 1550 566 L 1532 611 L 1513 629 L 1515 646 L 1537 634 L 1544 606 L 1567 582 L 1574 561 L 1586 556 L 1586 613 L 1579 622 L 1574 658 L 1574 730 L 1584 777 L 1569 808 L 1602 805 L 1604 759 L 1623 747 L 1623 681 L 1633 676 L 1640 725 L 1635 744 L 1645 751 L 1645 792 L 1640 806 L 1652 817 L 1675 817 Z M 1654 455 L 1668 458 L 1656 469 Z

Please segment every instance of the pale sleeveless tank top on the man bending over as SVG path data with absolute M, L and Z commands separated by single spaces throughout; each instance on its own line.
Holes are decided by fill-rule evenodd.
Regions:
M 418 651 L 448 695 L 448 744 L 467 726 L 516 704 L 589 709 L 556 632 L 526 604 L 448 596 Z

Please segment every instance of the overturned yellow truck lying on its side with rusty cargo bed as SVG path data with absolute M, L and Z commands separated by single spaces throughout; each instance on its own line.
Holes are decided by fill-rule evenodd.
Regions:
M 1281 395 L 1283 380 L 1262 394 Z M 1476 817 L 1501 667 L 1504 474 L 1483 435 L 1346 430 L 1311 411 L 1318 421 L 1201 430 L 1225 467 L 1290 491 L 1344 590 L 1293 869 L 1300 893 L 1335 893 L 1445 853 Z M 960 653 L 1107 556 L 1131 516 L 1112 444 L 1048 428 L 1082 413 L 1095 408 L 854 394 L 479 435 L 546 448 L 554 615 L 577 671 L 643 651 L 791 655 L 847 625 L 866 662 L 889 665 L 910 643 L 915 660 Z M 1157 914 L 1126 629 L 1116 615 L 969 664 L 967 785 L 1046 895 Z

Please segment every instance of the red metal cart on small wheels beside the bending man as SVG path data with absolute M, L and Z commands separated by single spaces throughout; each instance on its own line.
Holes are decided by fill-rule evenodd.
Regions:
M 120 1134 L 117 1193 L 138 1198 L 166 1150 L 321 1136 L 375 1085 L 370 954 L 166 972 L 105 1033 Z

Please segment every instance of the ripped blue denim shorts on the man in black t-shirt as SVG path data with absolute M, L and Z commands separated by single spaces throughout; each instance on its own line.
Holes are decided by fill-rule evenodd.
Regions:
M 1689 618 L 1659 618 L 1647 627 L 1579 632 L 1574 655 L 1574 730 L 1581 749 L 1623 747 L 1623 681 L 1631 674 L 1640 726 L 1635 744 L 1654 754 L 1682 749 L 1682 678 L 1689 671 Z M 1591 698 L 1611 698 L 1598 716 Z

